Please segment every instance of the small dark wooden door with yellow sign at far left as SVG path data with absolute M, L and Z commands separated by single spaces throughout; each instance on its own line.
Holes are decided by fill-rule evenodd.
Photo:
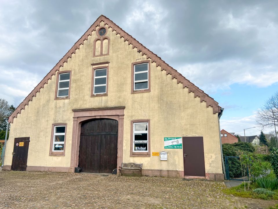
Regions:
M 14 138 L 11 170 L 25 171 L 29 150 L 30 137 Z

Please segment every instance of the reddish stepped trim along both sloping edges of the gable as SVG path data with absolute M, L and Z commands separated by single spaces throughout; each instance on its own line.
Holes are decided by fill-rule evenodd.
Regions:
M 161 70 L 165 70 L 167 75 L 172 75 L 172 79 L 177 79 L 177 83 L 182 83 L 183 88 L 188 88 L 189 92 L 193 92 L 195 97 L 199 97 L 201 102 L 206 102 L 207 107 L 213 108 L 213 113 L 220 112 L 220 106 L 218 102 L 213 100 L 208 94 L 204 93 L 201 89 L 196 87 L 193 83 L 187 80 L 182 74 L 180 74 L 177 70 L 173 69 L 166 62 L 161 60 L 156 54 L 151 52 L 145 46 L 140 44 L 135 38 L 126 33 L 122 28 L 117 26 L 113 21 L 104 15 L 100 15 L 98 19 L 92 24 L 92 26 L 83 34 L 83 36 L 72 46 L 72 48 L 63 56 L 63 58 L 52 68 L 52 70 L 41 80 L 41 82 L 33 89 L 33 91 L 21 102 L 21 104 L 17 107 L 17 109 L 10 115 L 9 122 L 13 122 L 13 118 L 17 117 L 17 114 L 21 113 L 22 109 L 25 109 L 25 106 L 32 101 L 32 98 L 36 96 L 37 92 L 40 92 L 40 89 L 47 84 L 48 80 L 52 79 L 52 75 L 56 75 L 56 71 L 59 71 L 60 67 L 67 62 L 68 58 L 72 57 L 72 54 L 75 53 L 76 49 L 79 49 L 80 45 L 84 43 L 85 40 L 88 40 L 88 37 L 92 35 L 92 32 L 96 31 L 96 27 L 100 26 L 100 23 L 104 22 L 107 28 L 111 28 L 112 31 L 116 31 L 116 34 L 120 35 L 120 38 L 124 38 L 124 41 L 127 41 L 128 44 L 132 44 L 133 48 L 137 48 L 138 53 L 142 53 L 142 55 L 146 55 L 147 59 L 151 59 L 152 62 L 156 63 L 156 66 L 160 66 Z

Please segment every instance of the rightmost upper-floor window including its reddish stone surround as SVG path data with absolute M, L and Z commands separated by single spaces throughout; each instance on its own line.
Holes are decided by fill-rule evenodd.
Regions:
M 132 63 L 131 93 L 150 91 L 150 61 Z

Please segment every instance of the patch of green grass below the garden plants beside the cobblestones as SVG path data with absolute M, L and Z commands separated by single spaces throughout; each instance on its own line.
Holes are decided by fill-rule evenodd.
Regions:
M 252 190 L 256 189 L 256 188 L 258 188 L 258 185 L 255 183 L 251 183 L 249 190 L 247 190 L 247 183 L 246 183 L 246 192 L 245 192 L 244 191 L 244 183 L 242 183 L 236 187 L 224 189 L 223 192 L 227 195 L 233 194 L 234 196 L 237 196 L 237 197 L 265 199 L 265 200 L 270 200 L 270 199 L 278 200 L 278 190 L 273 190 L 273 192 L 275 192 L 275 194 L 272 197 L 270 197 L 266 194 L 257 194 L 255 192 L 253 192 Z

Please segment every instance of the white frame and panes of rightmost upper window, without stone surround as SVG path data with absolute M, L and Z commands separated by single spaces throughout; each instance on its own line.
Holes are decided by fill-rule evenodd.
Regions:
M 149 89 L 149 63 L 134 65 L 133 90 Z

